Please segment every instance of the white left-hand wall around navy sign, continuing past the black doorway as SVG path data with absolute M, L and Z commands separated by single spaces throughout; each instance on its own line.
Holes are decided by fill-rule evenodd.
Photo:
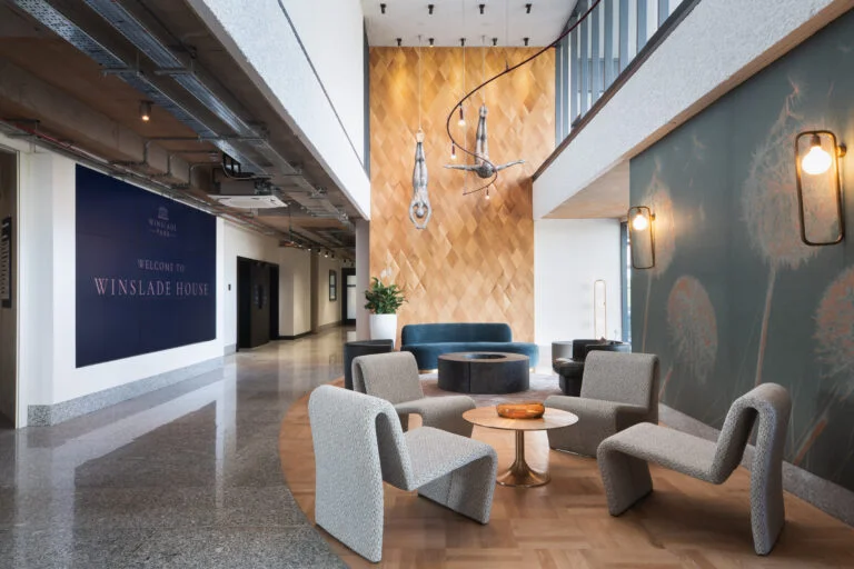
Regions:
M 218 219 L 216 339 L 77 368 L 77 318 L 86 315 L 76 309 L 76 163 L 2 134 L 0 146 L 18 150 L 20 163 L 13 282 L 20 311 L 19 427 L 26 426 L 30 405 L 54 405 L 222 357 L 224 348 L 237 342 L 238 256 L 279 264 L 279 333 L 309 330 L 309 254 Z

